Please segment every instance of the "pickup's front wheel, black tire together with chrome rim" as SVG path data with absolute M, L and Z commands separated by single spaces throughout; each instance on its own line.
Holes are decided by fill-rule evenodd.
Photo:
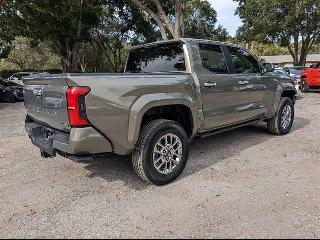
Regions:
M 287 134 L 293 124 L 294 105 L 290 98 L 281 97 L 275 115 L 267 120 L 269 132 L 274 135 Z

